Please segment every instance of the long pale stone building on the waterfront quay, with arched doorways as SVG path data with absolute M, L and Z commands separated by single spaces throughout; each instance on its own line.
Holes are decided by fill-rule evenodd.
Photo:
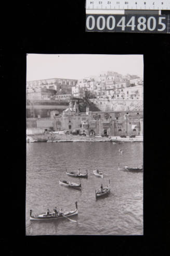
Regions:
M 87 135 L 142 136 L 143 112 L 79 112 L 79 106 L 70 103 L 62 115 L 55 118 L 55 130 L 79 130 Z

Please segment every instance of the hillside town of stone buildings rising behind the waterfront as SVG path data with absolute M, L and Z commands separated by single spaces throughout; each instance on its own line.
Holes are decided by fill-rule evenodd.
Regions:
M 28 81 L 26 96 L 28 136 L 143 136 L 141 77 L 108 71 L 80 80 Z

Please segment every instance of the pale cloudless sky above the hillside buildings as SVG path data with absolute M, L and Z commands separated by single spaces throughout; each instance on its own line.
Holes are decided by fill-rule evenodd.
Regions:
M 82 79 L 107 71 L 143 77 L 143 55 L 27 55 L 27 81 L 49 78 Z

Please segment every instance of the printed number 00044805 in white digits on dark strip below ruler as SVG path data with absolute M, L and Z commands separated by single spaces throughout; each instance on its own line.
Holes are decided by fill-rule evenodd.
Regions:
M 137 15 L 87 15 L 86 31 L 166 33 L 167 17 Z

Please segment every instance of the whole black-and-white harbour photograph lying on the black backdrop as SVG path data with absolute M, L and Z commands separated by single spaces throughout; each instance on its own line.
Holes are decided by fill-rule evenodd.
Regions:
M 25 87 L 26 235 L 143 235 L 143 55 L 27 54 Z

